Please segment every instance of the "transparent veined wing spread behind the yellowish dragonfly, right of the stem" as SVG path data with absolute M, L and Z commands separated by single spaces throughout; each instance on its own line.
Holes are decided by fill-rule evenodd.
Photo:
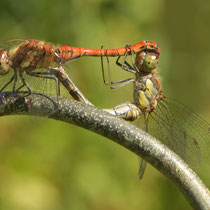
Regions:
M 142 115 L 139 126 L 184 159 L 198 167 L 210 156 L 210 125 L 184 105 L 164 98 L 150 114 Z

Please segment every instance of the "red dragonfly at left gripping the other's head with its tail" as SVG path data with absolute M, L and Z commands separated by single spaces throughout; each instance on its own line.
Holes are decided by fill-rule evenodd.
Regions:
M 72 59 L 82 56 L 127 56 L 136 54 L 144 50 L 160 52 L 160 48 L 155 42 L 141 41 L 132 46 L 126 46 L 117 49 L 91 49 L 79 48 L 71 46 L 55 47 L 50 43 L 38 40 L 18 40 L 9 41 L 12 47 L 0 49 L 0 75 L 7 75 L 13 69 L 13 75 L 0 89 L 0 92 L 5 90 L 10 83 L 13 83 L 13 92 L 20 90 L 23 87 L 27 88 L 27 94 L 30 95 L 32 90 L 26 81 L 24 74 L 46 78 L 56 81 L 57 95 L 59 94 L 60 82 L 78 101 L 91 104 L 79 89 L 74 85 L 73 81 L 65 72 L 63 65 Z M 13 44 L 15 43 L 15 47 Z M 118 63 L 119 65 L 119 63 Z M 37 69 L 44 69 L 37 71 Z M 22 85 L 17 88 L 18 75 L 22 81 Z

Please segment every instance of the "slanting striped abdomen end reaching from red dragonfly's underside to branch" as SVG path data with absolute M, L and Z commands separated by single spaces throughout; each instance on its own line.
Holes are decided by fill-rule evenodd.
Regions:
M 59 68 L 49 68 L 54 76 L 58 79 L 58 81 L 68 90 L 69 94 L 77 101 L 84 102 L 86 104 L 92 105 L 85 96 L 80 92 L 80 90 L 76 87 L 73 81 L 70 79 L 68 74 L 64 71 L 63 67 Z

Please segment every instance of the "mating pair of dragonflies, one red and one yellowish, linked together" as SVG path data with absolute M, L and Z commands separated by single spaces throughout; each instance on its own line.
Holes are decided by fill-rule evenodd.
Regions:
M 55 81 L 57 100 L 61 83 L 74 99 L 92 105 L 74 85 L 63 66 L 67 61 L 82 56 L 101 57 L 103 80 L 106 85 L 115 89 L 129 83 L 134 84 L 133 103 L 125 103 L 105 111 L 128 121 L 139 119 L 137 123 L 140 128 L 165 143 L 189 165 L 196 167 L 203 157 L 210 154 L 209 124 L 185 106 L 164 96 L 161 83 L 156 76 L 159 55 L 160 48 L 155 42 L 149 41 L 117 49 L 90 49 L 70 46 L 56 48 L 43 41 L 20 40 L 15 47 L 0 50 L 1 77 L 4 78 L 11 70 L 13 71 L 13 75 L 5 81 L 0 92 L 13 83 L 13 92 L 26 88 L 25 96 L 30 95 L 32 90 L 25 79 L 25 75 L 29 75 Z M 122 63 L 119 62 L 121 56 Z M 126 61 L 128 56 L 132 57 L 131 64 Z M 103 57 L 106 57 L 107 61 L 108 57 L 118 57 L 116 64 L 122 70 L 134 74 L 135 78 L 114 82 L 109 78 L 107 82 Z M 21 80 L 20 87 L 17 87 L 18 76 Z M 145 167 L 146 161 L 142 160 L 140 178 L 143 177 Z

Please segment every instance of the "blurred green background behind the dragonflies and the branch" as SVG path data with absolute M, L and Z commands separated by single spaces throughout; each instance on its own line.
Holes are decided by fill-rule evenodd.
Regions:
M 1 0 L 0 40 L 40 39 L 63 45 L 123 47 L 151 40 L 162 49 L 165 94 L 210 122 L 208 0 Z M 114 60 L 113 60 L 114 62 Z M 124 76 L 111 64 L 114 79 Z M 99 58 L 71 62 L 73 81 L 100 108 L 132 100 L 132 86 L 110 90 Z M 0 209 L 191 209 L 170 181 L 90 131 L 28 116 L 0 120 Z M 196 170 L 210 187 L 208 163 Z

